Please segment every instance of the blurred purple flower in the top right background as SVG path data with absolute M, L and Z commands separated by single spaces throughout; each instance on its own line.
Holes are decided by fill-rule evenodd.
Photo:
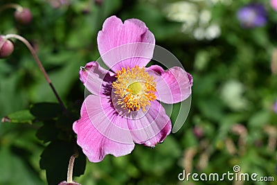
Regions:
M 267 12 L 260 3 L 251 3 L 240 8 L 237 17 L 244 28 L 255 28 L 267 24 Z

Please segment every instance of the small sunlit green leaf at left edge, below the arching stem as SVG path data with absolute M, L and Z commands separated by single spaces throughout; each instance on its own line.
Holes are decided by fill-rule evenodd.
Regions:
M 35 119 L 33 114 L 30 114 L 28 109 L 21 110 L 18 112 L 14 112 L 2 118 L 2 122 L 9 122 L 9 123 L 32 123 Z

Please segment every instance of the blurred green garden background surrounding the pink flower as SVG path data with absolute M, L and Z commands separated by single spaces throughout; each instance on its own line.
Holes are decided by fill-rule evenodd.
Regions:
M 17 33 L 33 44 L 57 92 L 76 115 L 84 100 L 78 71 L 99 58 L 97 33 L 111 15 L 144 21 L 157 45 L 177 56 L 193 75 L 192 105 L 179 132 L 154 149 L 136 145 L 130 155 L 87 162 L 76 182 L 274 184 L 178 179 L 184 169 L 222 174 L 239 165 L 242 173 L 277 180 L 277 7 L 272 2 L 1 0 L 0 8 L 18 3 L 33 19 L 20 24 L 15 9 L 1 10 L 0 35 Z M 0 118 L 34 103 L 57 102 L 26 46 L 14 44 L 12 55 L 0 59 Z M 37 139 L 38 128 L 0 123 L 0 184 L 47 184 L 39 159 L 48 142 Z

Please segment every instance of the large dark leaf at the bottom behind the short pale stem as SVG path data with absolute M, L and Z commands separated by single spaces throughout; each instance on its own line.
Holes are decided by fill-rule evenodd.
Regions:
M 74 154 L 75 143 L 64 141 L 51 142 L 42 152 L 40 168 L 46 170 L 46 178 L 49 185 L 56 185 L 66 179 L 69 159 Z M 86 157 L 78 148 L 79 157 L 75 159 L 73 175 L 80 176 L 84 173 Z

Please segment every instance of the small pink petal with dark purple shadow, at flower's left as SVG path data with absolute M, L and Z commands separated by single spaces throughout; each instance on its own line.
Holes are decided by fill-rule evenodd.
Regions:
M 114 73 L 100 67 L 98 62 L 89 62 L 85 67 L 81 67 L 79 76 L 91 94 L 98 96 L 109 96 L 111 83 L 116 80 Z

